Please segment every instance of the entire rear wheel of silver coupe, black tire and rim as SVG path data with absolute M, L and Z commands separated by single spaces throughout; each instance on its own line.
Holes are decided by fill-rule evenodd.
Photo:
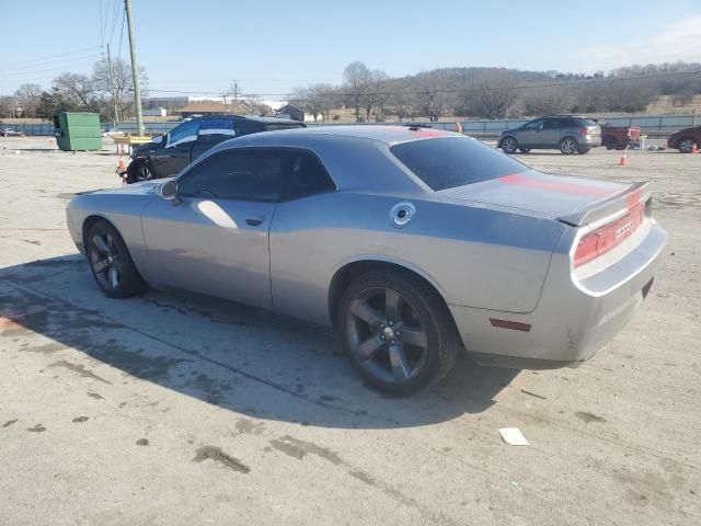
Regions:
M 376 271 L 356 277 L 337 312 L 350 361 L 384 392 L 409 396 L 425 389 L 450 371 L 459 354 L 460 336 L 443 298 L 411 274 Z

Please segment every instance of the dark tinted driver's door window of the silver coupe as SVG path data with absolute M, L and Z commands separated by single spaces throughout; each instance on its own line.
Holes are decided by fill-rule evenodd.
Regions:
M 284 158 L 284 150 L 220 151 L 183 175 L 177 190 L 193 197 L 276 202 Z

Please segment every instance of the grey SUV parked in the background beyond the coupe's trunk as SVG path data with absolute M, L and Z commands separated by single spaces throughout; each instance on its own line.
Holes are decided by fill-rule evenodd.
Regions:
M 591 119 L 576 115 L 537 118 L 499 135 L 505 153 L 526 153 L 531 149 L 559 149 L 563 153 L 586 153 L 601 146 L 601 128 Z

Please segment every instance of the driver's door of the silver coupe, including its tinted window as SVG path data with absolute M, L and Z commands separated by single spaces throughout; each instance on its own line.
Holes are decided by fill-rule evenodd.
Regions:
M 268 236 L 284 157 L 227 149 L 179 176 L 180 203 L 156 198 L 141 216 L 147 278 L 269 309 Z

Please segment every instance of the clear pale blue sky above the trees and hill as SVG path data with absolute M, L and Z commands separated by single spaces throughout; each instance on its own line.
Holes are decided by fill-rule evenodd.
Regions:
M 698 0 L 133 0 L 139 65 L 166 91 L 280 99 L 296 85 L 342 81 L 361 60 L 390 76 L 499 66 L 585 72 L 701 61 Z M 48 89 L 92 72 L 111 43 L 128 59 L 122 0 L 0 0 L 0 94 Z

